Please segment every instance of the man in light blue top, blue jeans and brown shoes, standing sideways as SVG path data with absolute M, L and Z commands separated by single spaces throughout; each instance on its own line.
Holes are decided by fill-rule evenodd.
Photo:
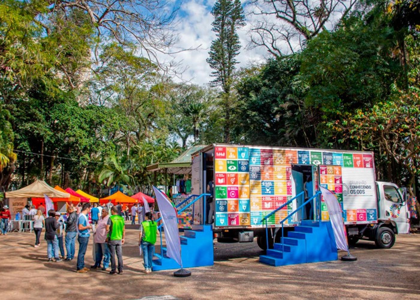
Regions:
M 77 219 L 77 241 L 79 242 L 79 253 L 77 253 L 77 273 L 86 273 L 89 271 L 88 268 L 84 266 L 84 255 L 86 254 L 87 244 L 89 243 L 90 232 L 89 229 L 92 228 L 89 225 L 89 220 L 87 214 L 89 213 L 90 204 L 84 203 L 81 208 L 81 213 Z

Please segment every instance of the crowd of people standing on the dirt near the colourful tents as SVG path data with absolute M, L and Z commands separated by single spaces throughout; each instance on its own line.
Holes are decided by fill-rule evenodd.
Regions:
M 29 205 L 24 209 L 28 211 L 22 212 L 25 220 L 26 218 L 29 219 L 26 216 L 30 216 L 30 219 L 34 221 L 34 247 L 39 247 L 42 229 L 45 229 L 44 238 L 47 242 L 48 261 L 72 261 L 75 258 L 77 237 L 79 243 L 76 263 L 77 273 L 87 273 L 91 269 L 98 268 L 107 271 L 109 265 L 111 265 L 109 274 L 123 273 L 122 245 L 125 239 L 125 221 L 129 219 L 128 206 L 123 209 L 120 203 L 113 205 L 111 201 L 102 206 L 94 203 L 92 208 L 90 203 L 79 203 L 77 206 L 68 205 L 66 220 L 62 218 L 60 212 L 53 209 L 47 211 L 46 217 L 44 217 L 45 206 L 43 203 L 39 205 L 38 209 L 35 209 L 34 206 L 29 207 Z M 89 213 L 92 224 L 89 223 Z M 140 224 L 139 246 L 142 247 L 144 255 L 144 272 L 149 274 L 152 271 L 157 224 L 153 221 L 152 213 L 144 213 L 143 207 L 139 204 L 131 208 L 132 224 L 135 224 L 136 216 Z M 11 218 L 7 205 L 1 209 L 0 218 L 1 232 L 6 234 L 8 221 Z M 84 257 L 91 230 L 94 235 L 95 264 L 87 268 Z

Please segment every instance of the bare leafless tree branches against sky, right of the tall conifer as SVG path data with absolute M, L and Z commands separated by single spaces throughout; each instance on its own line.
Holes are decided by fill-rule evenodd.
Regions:
M 254 0 L 257 16 L 251 46 L 265 47 L 274 56 L 304 49 L 307 41 L 352 11 L 358 0 Z

